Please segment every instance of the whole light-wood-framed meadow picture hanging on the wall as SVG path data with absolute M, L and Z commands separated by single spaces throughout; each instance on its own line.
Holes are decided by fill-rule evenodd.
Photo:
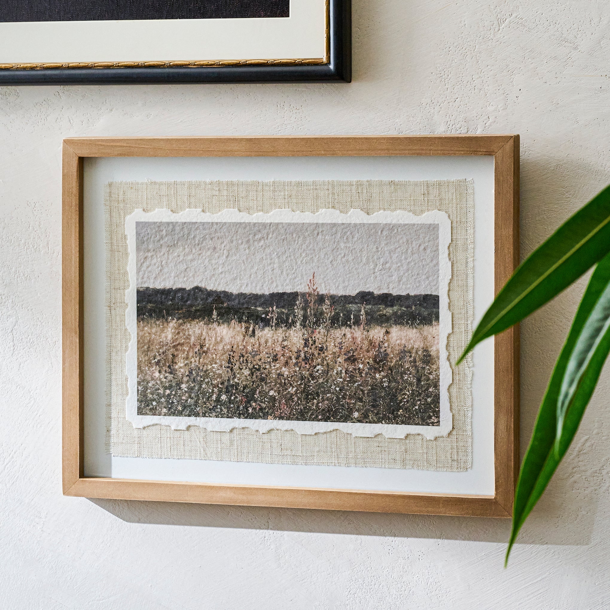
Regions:
M 519 137 L 63 143 L 66 495 L 508 517 Z

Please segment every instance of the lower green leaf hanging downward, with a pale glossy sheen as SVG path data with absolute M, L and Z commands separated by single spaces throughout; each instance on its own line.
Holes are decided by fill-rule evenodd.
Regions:
M 603 322 L 610 300 L 609 282 L 610 254 L 591 276 L 542 400 L 515 491 L 507 562 L 519 530 L 576 434 L 610 350 L 610 331 Z

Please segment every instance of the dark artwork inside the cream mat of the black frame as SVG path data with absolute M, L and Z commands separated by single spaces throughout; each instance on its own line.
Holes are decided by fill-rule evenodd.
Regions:
M 0 0 L 0 23 L 290 16 L 290 0 Z

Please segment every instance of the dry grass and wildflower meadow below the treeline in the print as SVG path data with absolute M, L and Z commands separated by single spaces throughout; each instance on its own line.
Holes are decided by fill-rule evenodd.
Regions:
M 267 328 L 138 318 L 138 413 L 439 425 L 439 325 L 368 328 L 363 305 L 337 328 L 325 303 Z

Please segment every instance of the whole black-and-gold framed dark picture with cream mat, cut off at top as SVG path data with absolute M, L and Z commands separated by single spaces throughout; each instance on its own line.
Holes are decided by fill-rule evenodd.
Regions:
M 350 0 L 0 0 L 0 85 L 347 81 Z

